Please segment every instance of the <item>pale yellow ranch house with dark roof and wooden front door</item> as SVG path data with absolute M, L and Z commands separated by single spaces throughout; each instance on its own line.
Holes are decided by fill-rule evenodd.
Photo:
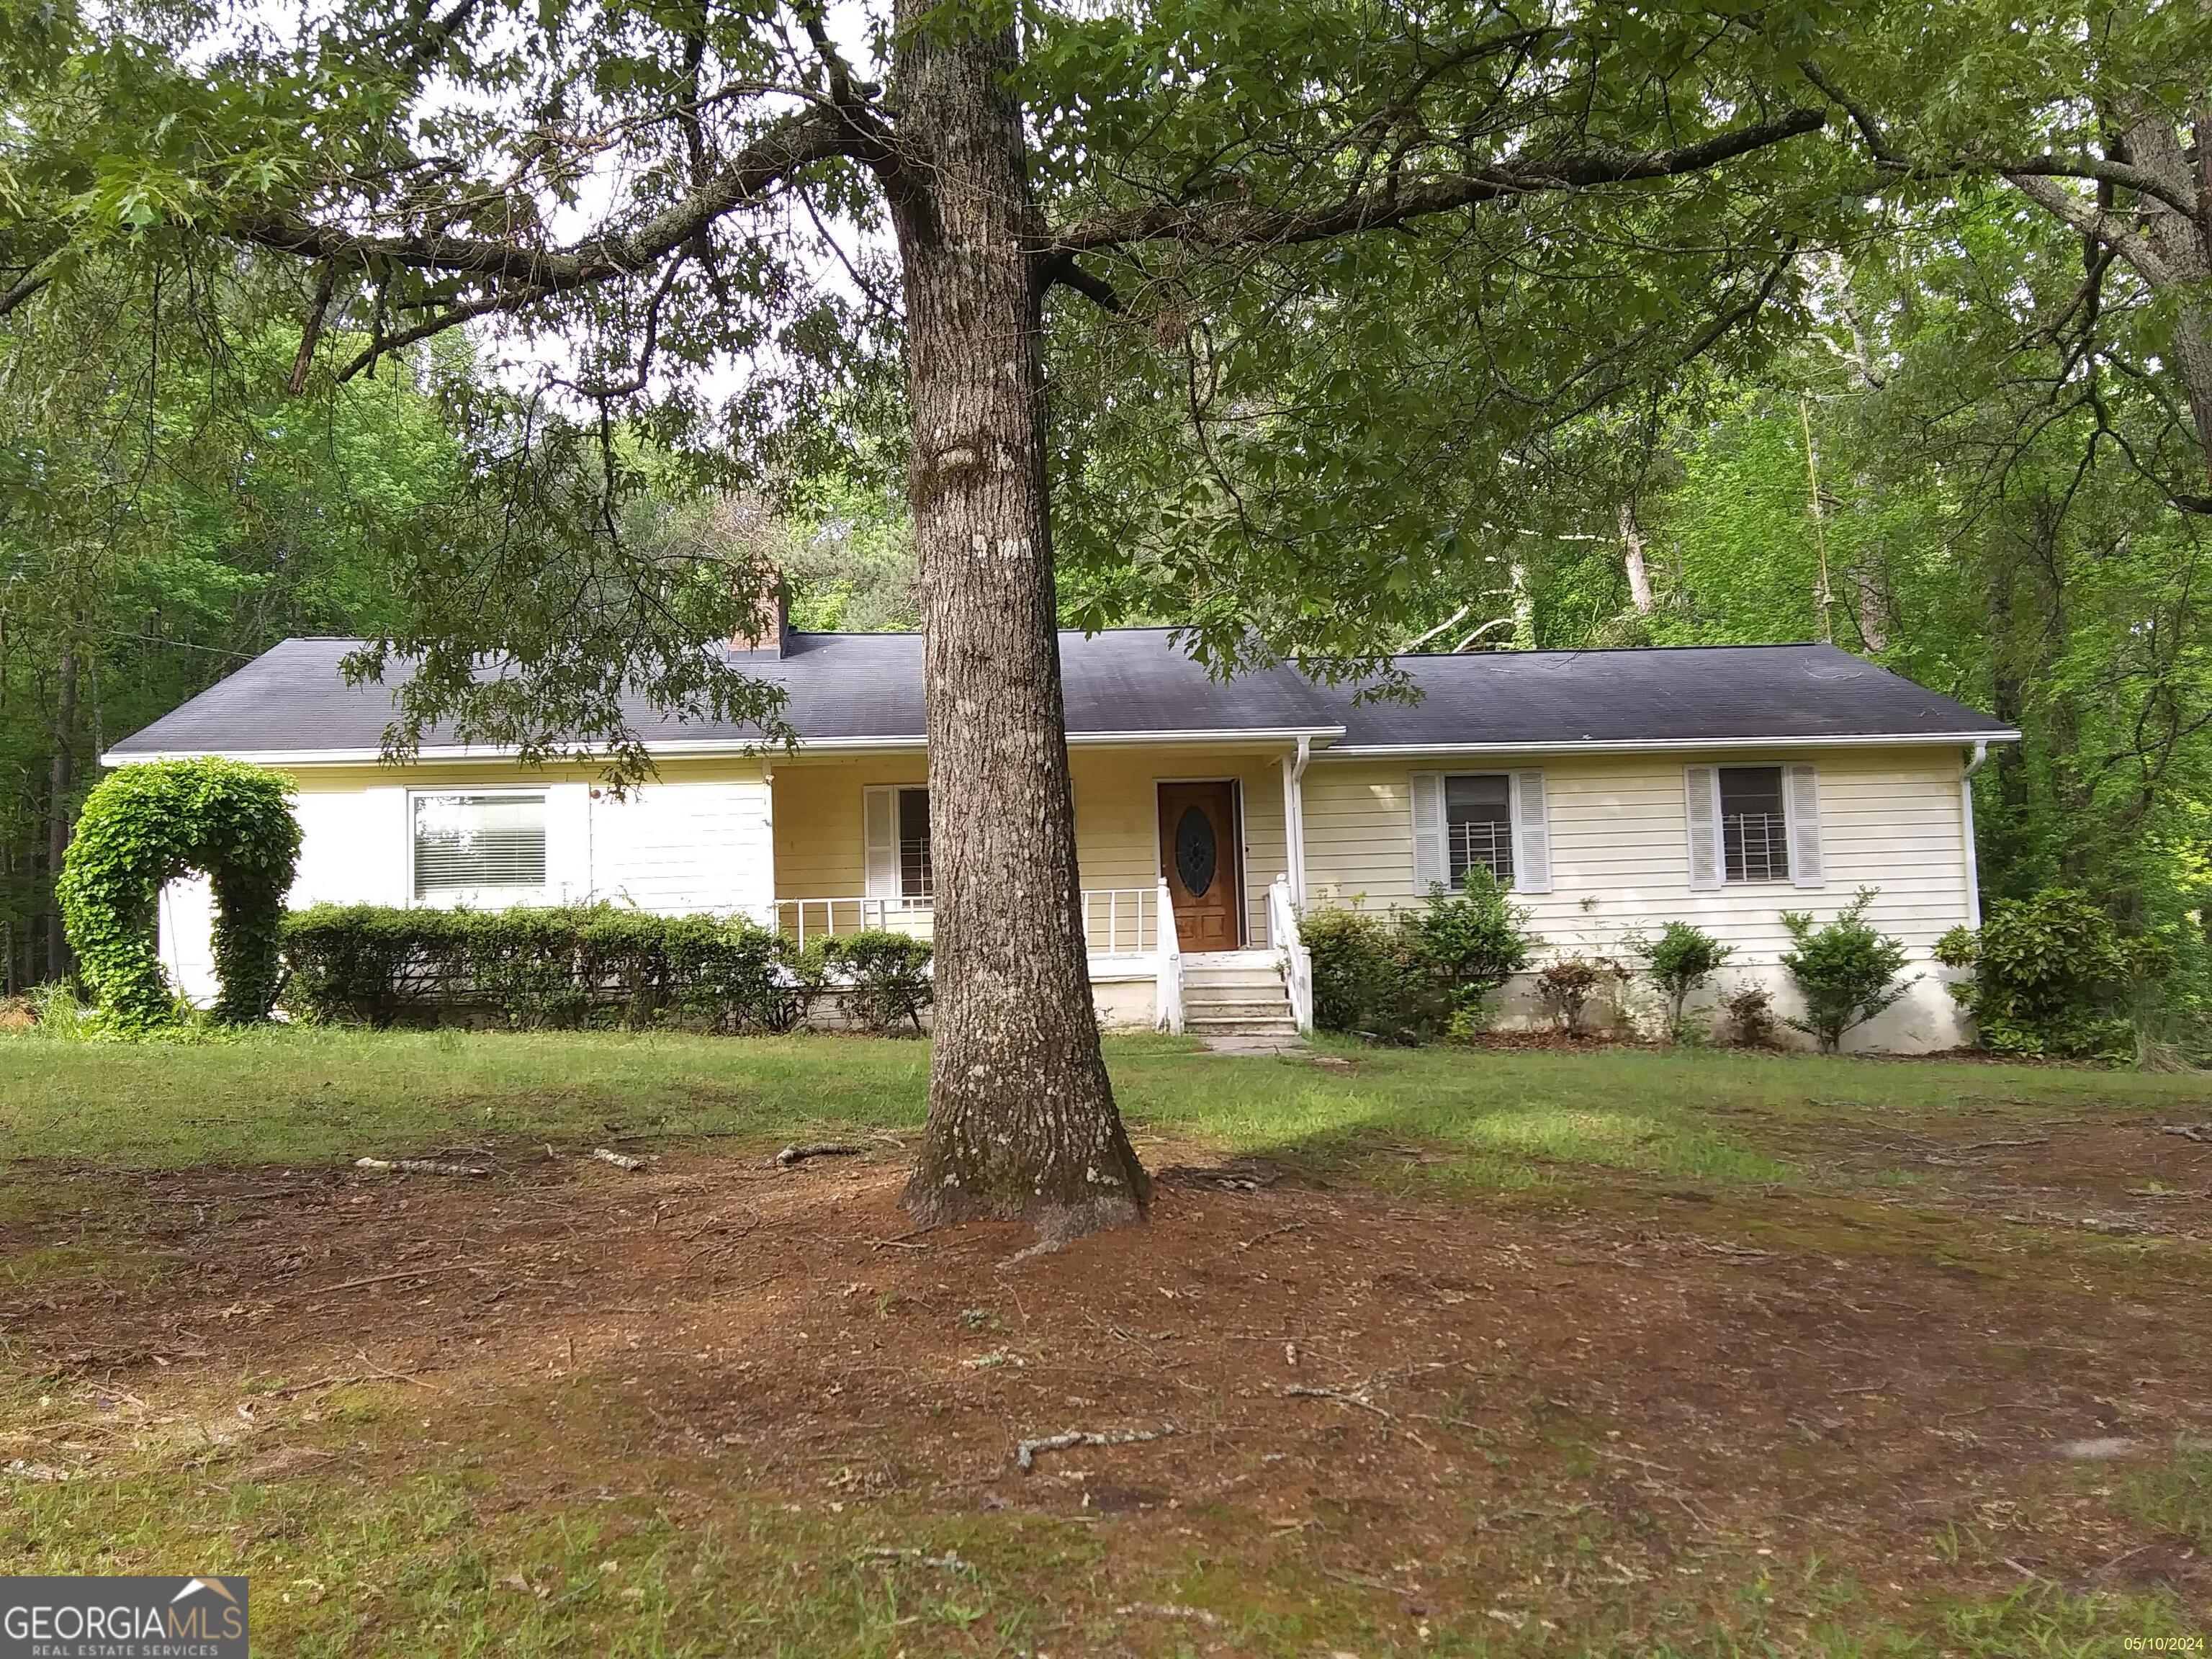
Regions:
M 739 650 L 796 748 L 633 712 L 657 776 L 427 734 L 380 763 L 392 690 L 349 688 L 352 639 L 288 639 L 108 765 L 223 754 L 299 779 L 292 905 L 571 905 L 743 914 L 792 936 L 929 931 L 918 635 L 790 628 Z M 1929 958 L 1978 922 L 1969 776 L 2017 732 L 1832 646 L 1407 655 L 1409 697 L 1294 668 L 1212 679 L 1172 630 L 1060 639 L 1091 980 L 1108 1026 L 1283 1035 L 1312 1024 L 1301 918 L 1418 902 L 1486 865 L 1544 953 L 1613 953 L 1690 920 L 1734 947 L 1721 993 L 1794 995 L 1783 911 L 1860 887 L 1907 942 L 1909 995 L 1869 1051 L 1964 1040 Z M 208 896 L 179 883 L 161 951 L 212 993 Z M 1528 1020 L 1526 984 L 1500 1018 Z

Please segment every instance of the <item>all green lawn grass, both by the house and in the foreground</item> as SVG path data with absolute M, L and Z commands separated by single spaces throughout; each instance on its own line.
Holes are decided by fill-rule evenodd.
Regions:
M 1108 1042 L 1115 1088 L 1155 1164 L 1250 1152 L 1329 1181 L 1418 1183 L 1431 1197 L 1467 1201 L 1526 1194 L 1659 1208 L 1679 1188 L 1699 1188 L 1717 1197 L 1692 1206 L 1699 1217 L 1728 1217 L 1734 1237 L 1776 1250 L 1887 1248 L 1944 1259 L 1960 1248 L 1964 1230 L 1889 1203 L 1898 1183 L 1931 1179 L 1922 1161 L 1860 1157 L 1893 1137 L 2024 1137 L 2008 1124 L 2042 1133 L 2068 1121 L 2212 1115 L 2203 1077 L 2088 1068 L 1604 1048 L 1325 1046 L 1323 1057 L 1345 1064 L 1219 1057 L 1166 1037 Z M 721 1137 L 717 1144 L 750 1155 L 787 1139 L 911 1133 L 927 1104 L 927 1062 L 922 1042 L 849 1037 L 7 1037 L 0 1225 L 38 1221 L 53 1190 L 82 1210 L 104 1190 L 106 1172 L 327 1166 L 451 1146 L 520 1152 L 551 1141 L 575 1150 L 626 1135 L 670 1144 Z M 1845 1146 L 1851 1159 L 1832 1157 Z M 73 1179 L 49 1181 L 55 1166 Z M 126 1181 L 113 1190 L 128 1203 Z M 1778 1206 L 1778 1192 L 1796 1201 Z M 1807 1192 L 1854 1206 L 1860 1232 L 1849 1245 L 1801 1237 L 1818 1223 L 1798 1197 Z M 2101 1272 L 2095 1252 L 2146 1248 L 2086 1239 L 2068 1245 L 2068 1272 Z M 159 1270 L 115 1237 L 64 1239 L 0 1259 L 0 1305 L 29 1294 L 106 1294 Z M 0 1429 L 97 1411 L 97 1378 L 31 1376 L 15 1358 L 0 1329 Z M 155 1391 L 146 1380 L 135 1387 Z M 228 1411 L 243 1391 L 239 1378 L 210 1380 L 210 1398 L 221 1402 L 204 1407 L 188 1383 L 175 1387 L 186 1389 L 179 1422 L 201 1422 L 192 1416 L 201 1409 Z M 717 1484 L 697 1467 L 639 1464 L 624 1451 L 641 1436 L 624 1427 L 619 1389 L 593 1378 L 557 1387 L 557 1398 L 518 1391 L 467 1405 L 431 1405 L 396 1383 L 334 1389 L 290 1429 L 294 1444 L 325 1444 L 332 1462 L 279 1480 L 259 1478 L 241 1453 L 215 1442 L 177 1440 L 184 1429 L 106 1458 L 97 1480 L 11 1484 L 0 1462 L 0 1571 L 239 1564 L 254 1573 L 257 1626 L 281 1641 L 272 1650 L 301 1655 L 2117 1659 L 2139 1650 L 2130 1641 L 2203 1628 L 2163 1593 L 2048 1579 L 2017 1593 L 1898 1606 L 1880 1586 L 1832 1577 L 1820 1562 L 1767 1562 L 1747 1548 L 1703 1562 L 1710 1577 L 1686 1579 L 1701 1593 L 1725 1586 L 1730 1610 L 1717 1619 L 1699 1610 L 1703 1604 L 1670 1599 L 1677 1590 L 1666 1582 L 1615 1584 L 1606 1526 L 1617 1522 L 1564 1502 L 1566 1484 L 1557 1493 L 1542 1484 L 1564 1475 L 1535 1471 L 1526 1515 L 1557 1520 L 1506 1524 L 1531 1528 L 1531 1575 L 1584 1562 L 1593 1588 L 1575 1624 L 1544 1628 L 1462 1610 L 1438 1615 L 1409 1641 L 1402 1617 L 1380 1617 L 1396 1608 L 1389 1597 L 1270 1557 L 1267 1537 L 1223 1544 L 1225 1533 L 1214 1531 L 1203 1546 L 1183 1548 L 1172 1531 L 1137 1542 L 1066 1520 L 978 1513 L 969 1500 L 792 1504 L 790 1493 Z M 270 1398 L 265 1411 L 303 1413 L 305 1400 Z M 513 1462 L 515 1436 L 540 1433 L 560 1436 L 555 1462 L 566 1480 L 553 1486 L 535 1484 L 542 1462 Z M 1473 1438 L 1460 1451 L 1482 1455 Z M 0 1460 L 7 1455 L 13 1451 Z M 1566 1447 L 1562 1469 L 1573 1473 L 1577 1455 Z M 2081 1471 L 2079 1502 L 2106 1504 L 2203 1551 L 2212 1542 L 2208 1471 L 2203 1451 L 2181 1447 L 2121 1478 Z M 1931 1548 L 1927 1540 L 1900 1546 Z M 1971 1540 L 1953 1546 L 1975 1548 Z M 942 1566 L 953 1557 L 956 1566 Z M 1141 1588 L 1133 1593 L 1133 1584 Z M 1133 1595 L 1203 1608 L 1214 1624 L 1133 1626 L 1110 1613 Z M 1071 1606 L 1088 1608 L 1082 1617 L 1091 1624 L 1071 1630 L 1062 1617 Z

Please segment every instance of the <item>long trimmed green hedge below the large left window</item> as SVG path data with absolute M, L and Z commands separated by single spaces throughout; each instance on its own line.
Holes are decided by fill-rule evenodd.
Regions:
M 872 1031 L 920 1031 L 929 942 L 790 938 L 743 918 L 613 905 L 392 909 L 316 905 L 283 922 L 288 1011 L 338 1024 L 595 1024 L 792 1031 L 830 1000 Z

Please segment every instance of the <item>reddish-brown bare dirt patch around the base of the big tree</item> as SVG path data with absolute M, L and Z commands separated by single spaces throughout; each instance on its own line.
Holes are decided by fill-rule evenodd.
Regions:
M 383 1380 L 429 1433 L 363 1458 L 469 1444 L 509 1502 L 630 1469 L 679 1513 L 743 1489 L 1062 1515 L 1115 1540 L 1108 1599 L 1212 1559 L 1349 1586 L 1409 1641 L 1444 1613 L 1697 1610 L 1807 1559 L 1874 1606 L 2212 1604 L 2188 1537 L 2106 1502 L 2212 1436 L 2212 1146 L 2157 1126 L 1823 1135 L 1927 1172 L 1896 1197 L 1544 1206 L 1433 1194 L 1413 1148 L 1378 1190 L 1155 1144 L 1183 1161 L 1148 1230 L 1018 1263 L 1013 1228 L 911 1234 L 889 1137 L 794 1170 L 495 1152 L 484 1181 L 53 1170 L 64 1208 L 0 1252 L 137 1270 L 7 1298 L 15 1363 L 100 1409 L 0 1462 L 95 1469 L 192 1402 L 281 1480 L 332 1455 L 325 1389 Z M 1062 1431 L 1150 1438 L 1024 1473 Z

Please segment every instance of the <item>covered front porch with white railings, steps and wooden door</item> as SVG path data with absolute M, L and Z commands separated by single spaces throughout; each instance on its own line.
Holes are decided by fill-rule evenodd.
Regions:
M 1099 1020 L 1181 1031 L 1197 973 L 1279 975 L 1298 1029 L 1294 750 L 1075 748 L 1075 856 Z M 920 750 L 779 759 L 770 768 L 774 925 L 799 942 L 933 927 Z M 1208 1013 L 1188 1006 L 1194 1024 Z

